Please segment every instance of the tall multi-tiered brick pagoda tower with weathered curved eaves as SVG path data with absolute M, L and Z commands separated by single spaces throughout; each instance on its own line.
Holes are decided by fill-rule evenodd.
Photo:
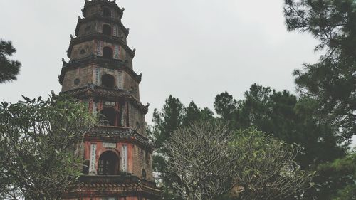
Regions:
M 159 199 L 152 177 L 152 144 L 145 133 L 148 105 L 140 102 L 142 74 L 132 69 L 124 9 L 114 1 L 85 0 L 59 75 L 62 92 L 105 120 L 85 135 L 80 184 L 63 199 Z

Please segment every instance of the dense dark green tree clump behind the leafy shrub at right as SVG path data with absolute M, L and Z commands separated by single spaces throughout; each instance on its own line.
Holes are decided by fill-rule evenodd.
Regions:
M 222 96 L 229 97 L 229 101 L 221 100 Z M 230 117 L 218 114 L 229 120 L 235 129 L 253 126 L 262 132 L 273 133 L 274 137 L 288 144 L 300 145 L 303 149 L 296 160 L 303 169 L 333 161 L 344 154 L 345 148 L 340 147 L 335 129 L 315 119 L 315 100 L 298 99 L 287 90 L 276 92 L 256 84 L 251 85 L 244 96 L 244 100 L 237 101 L 228 93 L 217 95 L 216 112 L 221 110 L 216 105 L 234 104 L 235 109 L 229 109 Z

